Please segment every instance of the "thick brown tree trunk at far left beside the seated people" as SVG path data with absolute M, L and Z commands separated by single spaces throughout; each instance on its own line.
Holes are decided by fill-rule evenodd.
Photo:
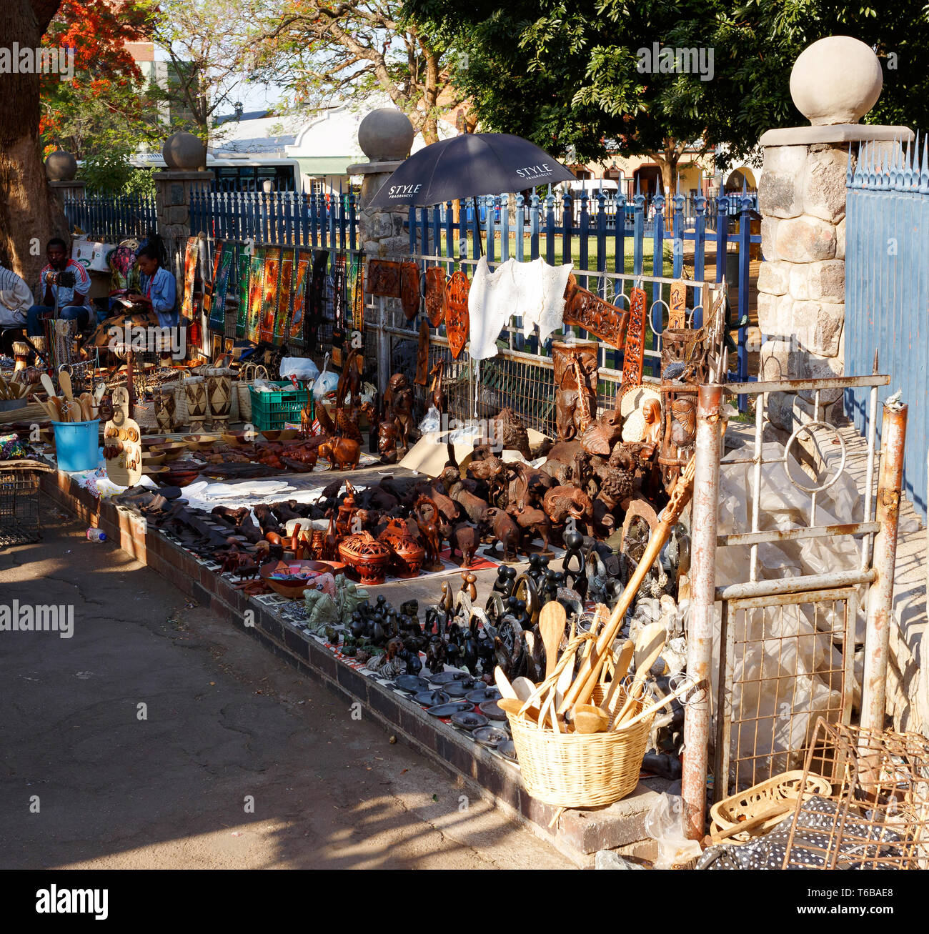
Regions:
M 4 0 L 0 36 L 11 48 L 37 49 L 60 0 Z M 39 76 L 0 75 L 0 253 L 35 289 L 49 237 L 67 233 L 67 220 L 49 189 L 42 161 Z

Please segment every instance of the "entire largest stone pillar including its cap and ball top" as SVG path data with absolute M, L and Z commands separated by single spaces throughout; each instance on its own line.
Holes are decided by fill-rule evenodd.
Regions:
M 758 273 L 761 378 L 842 375 L 845 323 L 845 182 L 865 140 L 907 141 L 906 127 L 858 123 L 880 96 L 880 62 L 850 36 L 820 39 L 791 73 L 791 96 L 811 125 L 760 139 L 758 184 L 764 262 Z M 842 416 L 840 389 L 822 392 L 821 418 Z M 770 421 L 786 431 L 812 412 L 812 394 L 771 393 Z

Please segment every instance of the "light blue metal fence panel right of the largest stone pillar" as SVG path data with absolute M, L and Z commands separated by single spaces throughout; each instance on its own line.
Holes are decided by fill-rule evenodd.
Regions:
M 926 517 L 929 440 L 929 158 L 926 140 L 862 145 L 849 160 L 845 219 L 845 372 L 892 375 L 909 403 L 904 488 Z M 847 390 L 846 412 L 864 430 L 868 393 Z M 880 422 L 879 422 L 880 428 Z

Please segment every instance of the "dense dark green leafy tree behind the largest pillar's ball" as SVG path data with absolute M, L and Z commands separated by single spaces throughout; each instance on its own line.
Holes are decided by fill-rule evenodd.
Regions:
M 804 122 L 796 56 L 823 35 L 874 46 L 885 90 L 867 120 L 925 125 L 926 14 L 826 0 L 404 0 L 406 16 L 457 50 L 451 79 L 481 126 L 580 161 L 647 154 L 672 189 L 688 144 L 745 156 L 765 130 Z M 711 70 L 655 70 L 640 50 L 703 51 Z M 652 56 L 654 58 L 654 55 Z M 643 65 L 651 65 L 643 69 Z

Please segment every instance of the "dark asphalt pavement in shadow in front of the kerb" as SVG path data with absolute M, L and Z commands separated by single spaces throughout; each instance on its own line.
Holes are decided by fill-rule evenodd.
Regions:
M 0 867 L 570 866 L 43 508 L 42 543 L 0 549 L 0 604 L 73 606 L 74 631 L 0 632 Z

